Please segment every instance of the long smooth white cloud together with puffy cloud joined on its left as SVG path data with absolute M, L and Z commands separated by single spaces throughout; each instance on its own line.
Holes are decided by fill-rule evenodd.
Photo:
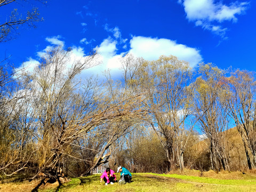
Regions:
M 130 51 L 117 54 L 117 46 L 120 46 L 116 40 L 108 37 L 103 42 L 95 47 L 99 57 L 98 62 L 101 65 L 89 69 L 91 74 L 99 74 L 111 69 L 111 74 L 115 77 L 122 74 L 120 67 L 121 59 L 126 53 L 131 53 L 135 57 L 143 57 L 146 60 L 157 60 L 161 55 L 174 55 L 180 60 L 185 60 L 190 63 L 191 67 L 195 67 L 202 60 L 199 50 L 188 47 L 186 45 L 177 44 L 170 39 L 158 39 L 151 37 L 132 37 L 130 41 Z M 122 46 L 122 45 L 121 45 Z

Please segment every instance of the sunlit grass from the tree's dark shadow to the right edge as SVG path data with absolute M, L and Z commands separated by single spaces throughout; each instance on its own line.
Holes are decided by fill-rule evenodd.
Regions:
M 59 191 L 256 191 L 256 179 L 221 180 L 178 174 L 136 173 L 132 183 L 105 186 L 99 182 L 99 177 L 74 178 Z

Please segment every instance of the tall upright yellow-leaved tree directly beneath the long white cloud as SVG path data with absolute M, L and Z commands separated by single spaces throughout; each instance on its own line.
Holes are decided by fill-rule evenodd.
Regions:
M 191 128 L 186 119 L 191 114 L 192 75 L 189 63 L 174 56 L 145 61 L 138 75 L 139 86 L 146 90 L 146 121 L 158 135 L 171 169 L 184 169 L 185 131 Z

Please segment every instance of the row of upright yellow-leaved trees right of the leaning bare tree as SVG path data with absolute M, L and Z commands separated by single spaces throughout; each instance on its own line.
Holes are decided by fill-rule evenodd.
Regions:
M 195 70 L 170 56 L 143 61 L 137 74 L 126 82 L 146 93 L 143 123 L 154 135 L 135 137 L 129 155 L 119 157 L 126 166 L 139 172 L 255 169 L 254 72 L 212 63 Z

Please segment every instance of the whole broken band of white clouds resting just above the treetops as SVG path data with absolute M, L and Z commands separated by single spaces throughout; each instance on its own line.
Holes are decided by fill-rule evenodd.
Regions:
M 63 49 L 65 43 L 60 41 L 59 38 L 60 36 L 47 37 L 46 41 L 51 45 L 47 46 L 44 50 L 37 52 L 38 57 L 44 57 L 44 54 L 52 49 L 53 45 L 60 45 Z M 93 39 L 93 41 L 95 40 Z M 83 44 L 89 44 L 86 38 L 81 39 L 80 42 Z M 127 45 L 129 45 L 129 43 L 127 43 Z M 103 39 L 102 43 L 94 48 L 94 51 L 98 52 L 98 57 L 93 60 L 90 66 L 88 66 L 91 68 L 85 70 L 81 74 L 81 78 L 91 75 L 98 75 L 101 78 L 102 72 L 107 69 L 111 69 L 111 74 L 113 76 L 120 76 L 122 74 L 119 70 L 122 66 L 121 59 L 126 53 L 131 53 L 137 57 L 143 57 L 146 60 L 156 60 L 161 55 L 175 55 L 181 60 L 190 62 L 191 67 L 197 66 L 197 64 L 202 60 L 199 50 L 178 44 L 170 39 L 133 36 L 130 40 L 129 51 L 125 53 L 118 53 L 118 48 L 121 48 L 122 46 L 123 44 L 118 42 L 118 39 L 113 39 L 111 37 Z M 68 58 L 69 62 L 66 63 L 65 71 L 68 71 L 68 69 L 71 68 L 73 63 L 77 60 L 83 62 L 86 59 L 87 56 L 82 47 L 71 47 Z M 23 63 L 23 67 L 26 68 L 28 73 L 29 71 L 33 71 L 38 65 L 39 62 L 31 58 L 29 58 L 27 62 Z M 21 67 L 17 70 L 19 69 L 21 69 Z

